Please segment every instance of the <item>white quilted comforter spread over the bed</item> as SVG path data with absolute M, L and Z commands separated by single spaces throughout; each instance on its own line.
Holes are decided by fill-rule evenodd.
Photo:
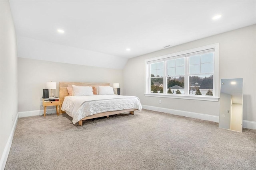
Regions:
M 61 109 L 73 117 L 75 124 L 82 118 L 106 111 L 124 109 L 138 109 L 142 106 L 140 99 L 135 96 L 121 95 L 92 95 L 92 96 L 66 96 Z

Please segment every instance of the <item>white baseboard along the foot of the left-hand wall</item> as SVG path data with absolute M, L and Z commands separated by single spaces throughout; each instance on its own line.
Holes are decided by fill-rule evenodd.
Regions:
M 11 146 L 12 146 L 12 139 L 13 139 L 13 136 L 14 136 L 14 132 L 15 132 L 15 129 L 16 129 L 17 122 L 18 122 L 18 118 L 19 118 L 19 114 L 17 114 L 17 116 L 15 118 L 14 124 L 12 126 L 12 131 L 11 131 L 10 136 L 8 138 L 8 141 L 7 141 L 7 143 L 4 147 L 4 152 L 3 152 L 1 160 L 0 160 L 0 170 L 4 170 L 4 167 L 6 165 L 6 161 L 7 161 Z

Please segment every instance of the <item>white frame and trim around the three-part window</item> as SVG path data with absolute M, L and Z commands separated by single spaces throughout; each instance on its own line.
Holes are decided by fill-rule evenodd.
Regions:
M 160 93 L 150 93 L 150 82 L 148 78 L 148 74 L 150 73 L 148 63 L 154 62 L 154 61 L 164 61 L 166 58 L 170 57 L 176 57 L 180 55 L 185 55 L 188 53 L 195 53 L 198 51 L 203 51 L 203 50 L 208 50 L 208 49 L 213 49 L 214 48 L 214 84 L 213 84 L 213 96 L 200 96 L 200 95 L 180 95 L 180 94 L 160 94 Z M 187 64 L 185 69 L 187 69 Z M 187 72 L 187 70 L 185 70 Z M 164 72 L 166 72 L 166 65 L 164 66 Z M 185 76 L 185 82 L 188 82 L 187 77 Z M 167 86 L 167 82 L 164 78 L 164 87 Z M 187 85 L 188 86 L 188 85 Z M 185 86 L 186 87 L 186 86 Z M 186 88 L 185 88 L 186 89 Z M 166 93 L 166 88 L 164 88 L 164 93 Z M 212 44 L 212 45 L 206 45 L 203 47 L 198 47 L 195 49 L 190 49 L 186 51 L 181 51 L 178 53 L 172 53 L 160 57 L 154 57 L 151 59 L 146 59 L 145 60 L 145 96 L 152 96 L 152 97 L 162 97 L 162 98 L 178 98 L 178 99 L 190 99 L 190 100 L 206 100 L 206 101 L 214 101 L 218 102 L 219 100 L 219 43 Z

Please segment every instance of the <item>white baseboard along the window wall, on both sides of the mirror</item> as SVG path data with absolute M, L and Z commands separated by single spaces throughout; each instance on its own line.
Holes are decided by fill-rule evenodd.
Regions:
M 186 116 L 186 117 L 191 117 L 191 118 L 196 118 L 196 119 L 219 122 L 219 116 L 215 116 L 215 115 L 207 115 L 207 114 L 202 114 L 202 113 L 195 113 L 195 112 L 175 110 L 175 109 L 167 109 L 167 108 L 163 108 L 163 107 L 154 107 L 154 106 L 147 106 L 147 105 L 142 105 L 142 108 L 148 109 L 148 110 L 153 110 L 153 111 L 160 111 L 160 112 L 164 112 L 164 113 L 170 113 L 170 114 L 174 114 L 174 115 L 180 115 L 180 116 Z M 243 120 L 243 127 L 248 128 L 248 129 L 256 129 L 256 122 Z

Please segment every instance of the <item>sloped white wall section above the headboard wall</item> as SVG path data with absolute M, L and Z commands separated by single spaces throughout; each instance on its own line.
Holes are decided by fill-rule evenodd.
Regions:
M 27 59 L 114 69 L 123 69 L 128 61 L 126 58 L 114 55 L 48 43 L 28 37 L 18 36 L 17 44 L 18 57 Z

